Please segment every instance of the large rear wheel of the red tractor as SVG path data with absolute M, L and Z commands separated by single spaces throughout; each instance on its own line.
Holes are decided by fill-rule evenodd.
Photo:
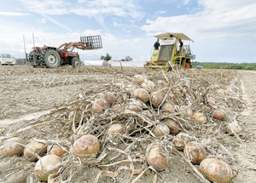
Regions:
M 61 57 L 54 49 L 44 51 L 44 64 L 49 68 L 56 68 L 61 64 Z

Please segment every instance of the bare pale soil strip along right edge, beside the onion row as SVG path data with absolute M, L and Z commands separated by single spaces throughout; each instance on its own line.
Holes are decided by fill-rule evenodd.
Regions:
M 233 183 L 256 182 L 256 71 L 239 71 L 243 99 L 247 101 L 247 109 L 241 112 L 239 123 L 245 129 L 246 139 L 243 145 L 236 147 L 233 163 L 239 169 Z

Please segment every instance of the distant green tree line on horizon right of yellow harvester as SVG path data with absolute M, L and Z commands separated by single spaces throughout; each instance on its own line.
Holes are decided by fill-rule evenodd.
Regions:
M 226 63 L 226 62 L 198 62 L 193 61 L 193 68 L 201 66 L 204 69 L 236 69 L 236 70 L 256 70 L 256 63 Z

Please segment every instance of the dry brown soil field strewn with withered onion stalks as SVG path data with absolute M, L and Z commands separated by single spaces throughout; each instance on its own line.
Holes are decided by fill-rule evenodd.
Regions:
M 116 70 L 119 71 L 119 69 Z M 79 122 L 74 124 L 74 120 L 68 118 L 72 110 L 77 110 L 79 117 L 85 115 L 86 112 L 90 112 L 90 105 L 87 105 L 86 102 L 90 103 L 95 100 L 97 94 L 131 83 L 135 74 L 142 74 L 155 83 L 158 80 L 164 81 L 166 85 L 160 86 L 159 84 L 157 87 L 162 87 L 161 89 L 165 90 L 166 100 L 170 100 L 174 106 L 174 112 L 171 114 L 160 112 L 152 106 L 150 108 L 149 104 L 149 106 L 145 106 L 153 113 L 153 123 L 159 123 L 164 117 L 174 118 L 178 123 L 183 124 L 181 131 L 191 134 L 193 140 L 201 142 L 206 147 L 208 157 L 224 159 L 230 164 L 236 175 L 230 182 L 256 182 L 256 71 L 194 70 L 180 73 L 168 72 L 166 76 L 161 71 L 147 71 L 143 68 L 125 68 L 121 72 L 114 74 L 112 69 L 104 67 L 82 67 L 79 70 L 73 70 L 71 67 L 38 69 L 27 66 L 0 66 L 0 141 L 10 136 L 18 136 L 21 138 L 20 143 L 26 146 L 32 138 L 63 140 L 63 136 L 66 135 L 64 131 L 67 130 L 67 123 L 71 122 L 70 131 L 79 126 Z M 166 79 L 169 83 L 166 82 Z M 215 79 L 217 79 L 216 83 L 214 83 Z M 114 91 L 117 92 L 117 90 Z M 119 94 L 123 94 L 121 90 L 118 91 Z M 187 98 L 194 97 L 194 99 L 189 98 L 194 101 L 193 104 L 189 104 L 189 106 L 193 106 L 193 112 L 202 111 L 202 106 L 210 107 L 210 111 L 206 114 L 207 123 L 195 123 L 191 117 L 183 114 L 181 105 L 188 104 L 180 99 L 187 99 L 186 93 Z M 215 100 L 214 105 L 211 106 L 205 100 L 207 94 L 210 94 Z M 215 108 L 226 112 L 227 117 L 224 122 L 212 119 L 211 114 Z M 107 114 L 107 112 L 105 112 L 105 116 L 99 115 L 97 118 L 92 115 L 88 118 L 84 117 L 87 121 L 84 120 L 87 123 L 97 123 L 97 127 L 106 128 L 108 123 L 114 123 L 117 120 L 123 120 L 123 122 L 134 120 L 131 113 L 110 112 Z M 67 117 L 65 118 L 63 114 Z M 120 117 L 121 114 L 122 117 Z M 41 115 L 43 117 L 40 117 Z M 85 121 L 81 120 L 81 123 L 85 123 Z M 103 121 L 104 123 L 100 123 Z M 236 136 L 225 134 L 225 124 L 234 123 L 234 121 L 238 122 L 243 129 L 241 134 Z M 44 122 L 47 123 L 43 125 Z M 91 128 L 95 127 L 94 123 L 91 124 Z M 128 128 L 129 125 L 127 125 Z M 150 129 L 151 126 L 148 125 L 148 128 Z M 19 129 L 22 129 L 20 133 L 15 134 Z M 86 131 L 85 128 L 83 130 Z M 81 162 L 76 166 L 68 161 L 68 158 L 73 158 L 75 164 L 75 160 L 77 160 L 75 157 L 72 155 L 63 157 L 70 164 L 65 170 L 70 174 L 63 175 L 67 182 L 136 182 L 138 174 L 131 175 L 131 166 L 141 170 L 148 167 L 143 154 L 145 154 L 146 145 L 154 138 L 150 136 L 150 133 L 148 134 L 147 130 L 138 131 L 137 133 L 140 134 L 130 133 L 130 136 L 127 134 L 124 137 L 124 145 L 118 146 L 104 141 L 102 137 L 104 129 L 97 129 L 90 133 L 98 133 L 97 136 L 102 140 L 101 146 L 104 146 L 104 151 L 108 152 L 108 156 L 102 157 L 101 160 L 99 160 L 100 157 L 97 157 L 97 161 L 95 159 L 80 160 Z M 70 132 L 67 132 L 67 136 L 74 138 Z M 158 138 L 158 140 L 166 142 L 173 138 L 172 135 L 169 135 L 165 138 Z M 65 143 L 72 144 L 73 141 L 67 139 L 63 142 L 63 144 Z M 168 168 L 159 174 L 155 174 L 151 170 L 151 173 L 145 173 L 137 182 L 207 182 L 207 180 L 199 178 L 196 173 L 196 170 L 199 170 L 199 165 L 192 166 L 186 163 L 182 158 L 183 152 L 179 152 L 179 154 L 172 152 L 172 147 L 168 143 L 166 142 L 168 145 L 166 145 L 166 152 L 170 152 Z M 114 148 L 116 150 L 113 150 Z M 99 154 L 103 154 L 102 149 Z M 117 158 L 113 159 L 114 156 Z M 110 157 L 112 161 L 107 161 L 106 159 L 110 159 Z M 137 159 L 137 162 L 134 162 L 135 165 L 131 165 L 132 163 L 129 161 L 128 163 L 117 163 L 127 160 L 127 157 L 128 159 L 129 157 Z M 116 164 L 112 165 L 111 163 Z M 106 164 L 109 166 L 105 166 Z M 26 161 L 23 156 L 1 157 L 0 182 L 40 182 L 33 174 L 34 165 L 35 163 Z M 196 170 L 193 170 L 193 167 Z M 8 172 L 3 173 L 8 169 Z M 127 169 L 130 170 L 130 173 Z M 100 176 L 100 174 L 102 175 Z M 71 177 L 72 179 L 68 181 L 68 178 Z

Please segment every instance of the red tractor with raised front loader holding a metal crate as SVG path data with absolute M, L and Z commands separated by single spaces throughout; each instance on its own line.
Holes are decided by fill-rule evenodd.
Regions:
M 73 49 L 102 49 L 101 36 L 80 37 L 80 42 L 63 43 L 58 48 L 45 46 L 33 47 L 29 54 L 26 54 L 26 61 L 34 67 L 55 68 L 58 66 L 72 65 L 79 68 L 81 61 L 79 53 Z

